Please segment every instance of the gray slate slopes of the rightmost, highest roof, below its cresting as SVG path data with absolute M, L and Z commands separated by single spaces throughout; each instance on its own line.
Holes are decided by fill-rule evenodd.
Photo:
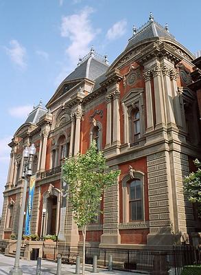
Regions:
M 147 21 L 145 25 L 143 25 L 139 30 L 137 30 L 136 34 L 132 36 L 128 41 L 128 45 L 126 46 L 126 50 L 132 47 L 134 44 L 139 43 L 145 39 L 150 39 L 153 37 L 166 37 L 169 39 L 174 39 L 174 36 L 170 34 L 165 28 L 157 23 L 156 21 Z M 175 39 L 174 39 L 175 40 Z

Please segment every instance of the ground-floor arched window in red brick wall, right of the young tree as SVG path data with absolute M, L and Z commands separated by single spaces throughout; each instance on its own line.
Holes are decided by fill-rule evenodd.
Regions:
M 143 188 L 140 179 L 134 179 L 129 184 L 129 220 L 143 219 Z

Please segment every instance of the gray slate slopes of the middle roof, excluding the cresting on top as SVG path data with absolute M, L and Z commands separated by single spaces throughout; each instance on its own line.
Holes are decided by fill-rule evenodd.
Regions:
M 109 66 L 106 65 L 106 63 L 102 63 L 93 56 L 90 56 L 81 65 L 76 67 L 75 71 L 69 74 L 69 76 L 67 76 L 67 78 L 65 78 L 64 81 L 74 80 L 77 78 L 88 78 L 90 80 L 94 80 L 101 74 L 104 74 L 108 67 Z

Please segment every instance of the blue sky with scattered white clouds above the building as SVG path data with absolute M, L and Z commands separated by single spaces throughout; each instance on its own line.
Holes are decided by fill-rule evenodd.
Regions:
M 0 212 L 12 135 L 91 45 L 112 63 L 149 17 L 192 53 L 201 49 L 200 0 L 0 0 Z

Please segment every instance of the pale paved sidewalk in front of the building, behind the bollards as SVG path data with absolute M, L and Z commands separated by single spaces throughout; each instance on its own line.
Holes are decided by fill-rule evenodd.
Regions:
M 20 261 L 20 267 L 23 270 L 23 274 L 25 275 L 36 275 L 36 263 L 37 261 L 27 261 L 21 259 Z M 4 256 L 3 254 L 0 254 L 0 275 L 9 275 L 10 270 L 12 269 L 14 265 L 14 258 Z M 80 270 L 80 272 L 82 272 Z M 137 272 L 120 272 L 118 270 L 115 270 L 113 272 L 108 272 L 106 269 L 98 269 L 99 275 L 145 275 L 145 273 L 137 273 Z M 95 273 L 92 273 L 92 266 L 86 265 L 85 273 L 88 275 L 93 275 Z M 75 274 L 75 265 L 67 265 L 62 264 L 62 275 L 66 274 Z M 41 264 L 41 273 L 40 275 L 56 275 L 56 263 L 51 261 L 45 261 L 42 260 Z M 147 275 L 147 274 L 146 274 Z

